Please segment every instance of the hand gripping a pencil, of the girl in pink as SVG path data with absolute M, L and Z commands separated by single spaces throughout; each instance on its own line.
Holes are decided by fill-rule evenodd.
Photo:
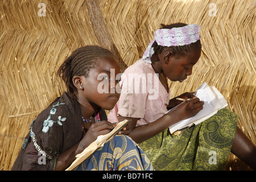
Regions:
M 200 101 L 199 98 L 193 97 L 190 100 L 180 104 L 174 112 L 179 116 L 179 120 L 191 118 L 199 113 L 203 109 L 204 101 Z

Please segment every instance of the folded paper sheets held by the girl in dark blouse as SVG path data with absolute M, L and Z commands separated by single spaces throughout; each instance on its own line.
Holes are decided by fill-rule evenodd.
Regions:
M 91 143 L 87 148 L 85 148 L 84 151 L 81 152 L 81 154 L 76 155 L 76 160 L 69 166 L 65 171 L 71 171 L 75 167 L 79 166 L 88 156 L 93 154 L 94 151 L 96 151 L 98 148 L 104 146 L 106 142 L 108 142 L 110 139 L 112 139 L 119 131 L 123 129 L 131 120 L 123 120 L 115 126 L 115 128 L 110 131 L 110 133 L 106 135 L 100 135 L 98 138 Z

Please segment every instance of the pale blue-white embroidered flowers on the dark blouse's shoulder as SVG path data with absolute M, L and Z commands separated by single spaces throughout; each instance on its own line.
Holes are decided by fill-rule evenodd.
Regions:
M 56 105 L 52 106 L 52 109 L 50 111 L 50 114 L 48 116 L 48 118 L 46 120 L 44 120 L 44 123 L 43 123 L 43 133 L 47 133 L 47 131 L 49 130 L 50 127 L 53 126 L 53 123 L 58 123 L 60 126 L 62 126 L 62 122 L 65 121 L 67 118 L 62 118 L 61 116 L 58 117 L 58 121 L 52 121 L 51 119 L 51 115 L 52 114 L 55 114 L 56 113 L 56 106 L 59 106 L 59 105 L 64 105 L 65 103 L 60 103 L 58 102 Z

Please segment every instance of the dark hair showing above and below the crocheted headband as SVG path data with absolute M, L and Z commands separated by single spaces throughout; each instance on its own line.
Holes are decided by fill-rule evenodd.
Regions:
M 184 27 L 187 26 L 188 24 L 185 23 L 174 23 L 174 24 L 161 24 L 162 28 L 177 28 L 177 27 Z M 163 48 L 166 46 L 158 46 L 156 42 L 152 44 L 152 47 L 154 47 L 154 52 L 156 54 L 159 54 L 163 51 Z M 197 40 L 195 43 L 191 43 L 189 45 L 184 45 L 184 46 L 171 46 L 168 47 L 168 49 L 174 54 L 174 56 L 184 56 L 187 55 L 189 52 L 196 51 L 197 49 L 201 49 L 201 42 L 200 40 Z

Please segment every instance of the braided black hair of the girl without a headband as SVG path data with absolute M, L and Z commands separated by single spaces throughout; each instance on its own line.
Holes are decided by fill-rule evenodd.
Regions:
M 104 57 L 113 57 L 116 60 L 116 57 L 108 49 L 99 46 L 84 46 L 73 51 L 61 64 L 57 75 L 62 77 L 71 98 L 77 100 L 77 88 L 73 84 L 73 77 L 88 77 L 90 70 L 100 65 L 98 60 Z

